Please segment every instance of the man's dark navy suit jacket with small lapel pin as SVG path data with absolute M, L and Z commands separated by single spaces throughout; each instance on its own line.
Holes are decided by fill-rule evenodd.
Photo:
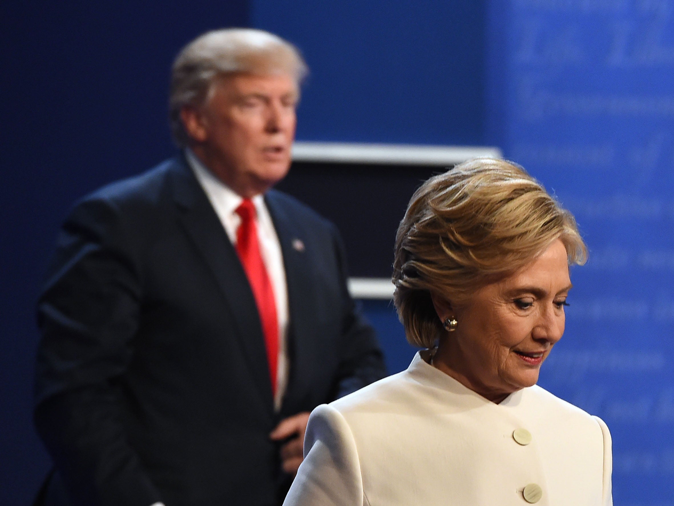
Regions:
M 274 190 L 266 204 L 290 306 L 280 413 L 253 293 L 185 159 L 75 205 L 38 303 L 44 504 L 279 504 L 274 426 L 384 376 L 334 225 Z

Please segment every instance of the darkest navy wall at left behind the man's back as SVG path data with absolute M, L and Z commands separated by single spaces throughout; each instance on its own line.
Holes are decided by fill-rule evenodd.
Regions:
M 168 72 L 201 32 L 247 24 L 247 1 L 0 5 L 0 505 L 49 466 L 31 419 L 34 302 L 72 202 L 174 151 Z

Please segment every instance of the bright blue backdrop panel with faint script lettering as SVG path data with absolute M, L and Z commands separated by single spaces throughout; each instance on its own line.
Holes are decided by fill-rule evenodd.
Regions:
M 674 2 L 489 5 L 490 139 L 590 248 L 541 385 L 607 422 L 617 505 L 673 505 Z

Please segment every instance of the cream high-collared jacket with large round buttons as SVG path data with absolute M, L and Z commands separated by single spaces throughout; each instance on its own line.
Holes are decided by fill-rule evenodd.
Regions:
M 492 403 L 425 360 L 313 410 L 284 506 L 613 504 L 602 420 L 538 386 Z

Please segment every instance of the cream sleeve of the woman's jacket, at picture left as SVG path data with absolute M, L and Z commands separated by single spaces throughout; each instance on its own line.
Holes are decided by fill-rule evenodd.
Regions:
M 311 413 L 304 461 L 284 506 L 363 506 L 363 479 L 353 434 L 340 412 L 319 405 Z

